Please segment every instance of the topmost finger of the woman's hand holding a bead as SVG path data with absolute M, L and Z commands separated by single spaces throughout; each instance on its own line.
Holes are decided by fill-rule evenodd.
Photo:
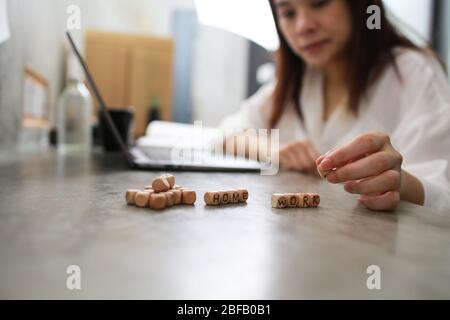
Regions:
M 330 152 L 321 161 L 320 168 L 322 170 L 339 168 L 352 159 L 381 150 L 389 141 L 389 136 L 383 133 L 361 135 L 347 145 Z

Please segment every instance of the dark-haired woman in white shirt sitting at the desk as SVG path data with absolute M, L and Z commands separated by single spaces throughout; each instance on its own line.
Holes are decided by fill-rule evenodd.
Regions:
M 450 208 L 450 89 L 431 51 L 394 29 L 381 0 L 270 4 L 277 81 L 222 127 L 280 129 L 283 168 L 332 170 L 368 209 Z M 381 29 L 367 27 L 371 5 Z

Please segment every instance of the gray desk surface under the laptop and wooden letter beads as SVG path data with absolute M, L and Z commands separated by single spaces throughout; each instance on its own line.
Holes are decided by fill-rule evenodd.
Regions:
M 117 156 L 0 156 L 0 298 L 450 298 L 450 214 L 358 207 L 341 187 L 293 173 L 176 173 L 195 207 L 155 213 L 124 192 L 157 172 Z M 247 205 L 207 208 L 203 192 L 244 186 Z M 274 210 L 274 192 L 319 192 L 320 209 Z M 82 289 L 66 289 L 81 267 Z M 381 290 L 366 287 L 369 265 Z

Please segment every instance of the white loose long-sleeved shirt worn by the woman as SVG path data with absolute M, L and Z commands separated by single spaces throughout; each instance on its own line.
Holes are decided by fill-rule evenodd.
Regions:
M 309 139 L 320 153 L 342 146 L 360 134 L 381 131 L 391 137 L 403 158 L 403 169 L 424 185 L 425 206 L 450 208 L 450 86 L 429 54 L 394 51 L 401 80 L 392 66 L 361 101 L 358 116 L 337 110 L 323 122 L 323 79 L 309 69 L 304 76 L 301 106 L 304 121 L 287 107 L 277 124 L 280 145 Z M 222 128 L 268 129 L 274 84 L 244 101 L 224 119 Z

